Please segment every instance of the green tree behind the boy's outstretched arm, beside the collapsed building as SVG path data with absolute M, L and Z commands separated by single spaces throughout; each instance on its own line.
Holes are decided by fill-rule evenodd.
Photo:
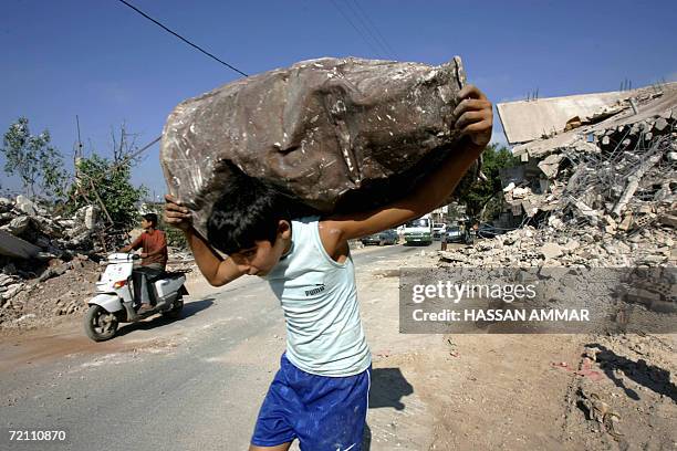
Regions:
M 507 147 L 498 144 L 490 144 L 482 154 L 482 172 L 487 176 L 487 180 L 476 182 L 458 199 L 459 203 L 466 206 L 468 217 L 473 219 L 481 219 L 480 214 L 485 207 L 496 200 L 501 192 L 499 170 L 519 162 L 519 159 L 513 157 Z

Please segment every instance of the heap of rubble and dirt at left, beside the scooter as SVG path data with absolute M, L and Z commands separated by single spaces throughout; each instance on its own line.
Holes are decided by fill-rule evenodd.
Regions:
M 97 211 L 88 206 L 71 217 L 52 216 L 24 196 L 0 198 L 0 326 L 84 307 L 93 285 L 81 282 L 96 280 L 96 261 L 114 239 L 104 238 Z M 61 283 L 45 283 L 65 273 Z

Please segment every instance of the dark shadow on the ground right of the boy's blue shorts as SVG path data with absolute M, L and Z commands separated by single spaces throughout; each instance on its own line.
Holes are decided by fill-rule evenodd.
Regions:
M 374 368 L 372 370 L 372 386 L 369 387 L 369 409 L 392 407 L 404 410 L 402 397 L 412 395 L 414 387 L 405 379 L 399 368 Z M 372 447 L 372 430 L 364 426 L 362 449 L 367 451 Z

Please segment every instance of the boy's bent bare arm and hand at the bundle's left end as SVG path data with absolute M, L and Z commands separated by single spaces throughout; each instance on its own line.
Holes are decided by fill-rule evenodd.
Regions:
M 190 212 L 186 207 L 183 207 L 169 195 L 165 196 L 165 200 L 167 201 L 165 221 L 184 231 L 186 241 L 195 256 L 195 262 L 209 284 L 221 286 L 244 274 L 232 259 L 221 258 L 207 240 L 192 228 Z

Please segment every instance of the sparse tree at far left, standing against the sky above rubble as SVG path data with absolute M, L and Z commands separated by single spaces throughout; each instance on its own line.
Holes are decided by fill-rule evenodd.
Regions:
M 0 151 L 4 154 L 4 172 L 17 175 L 23 183 L 25 195 L 46 197 L 61 196 L 66 183 L 63 157 L 50 144 L 49 130 L 31 135 L 29 119 L 20 117 L 4 134 Z

